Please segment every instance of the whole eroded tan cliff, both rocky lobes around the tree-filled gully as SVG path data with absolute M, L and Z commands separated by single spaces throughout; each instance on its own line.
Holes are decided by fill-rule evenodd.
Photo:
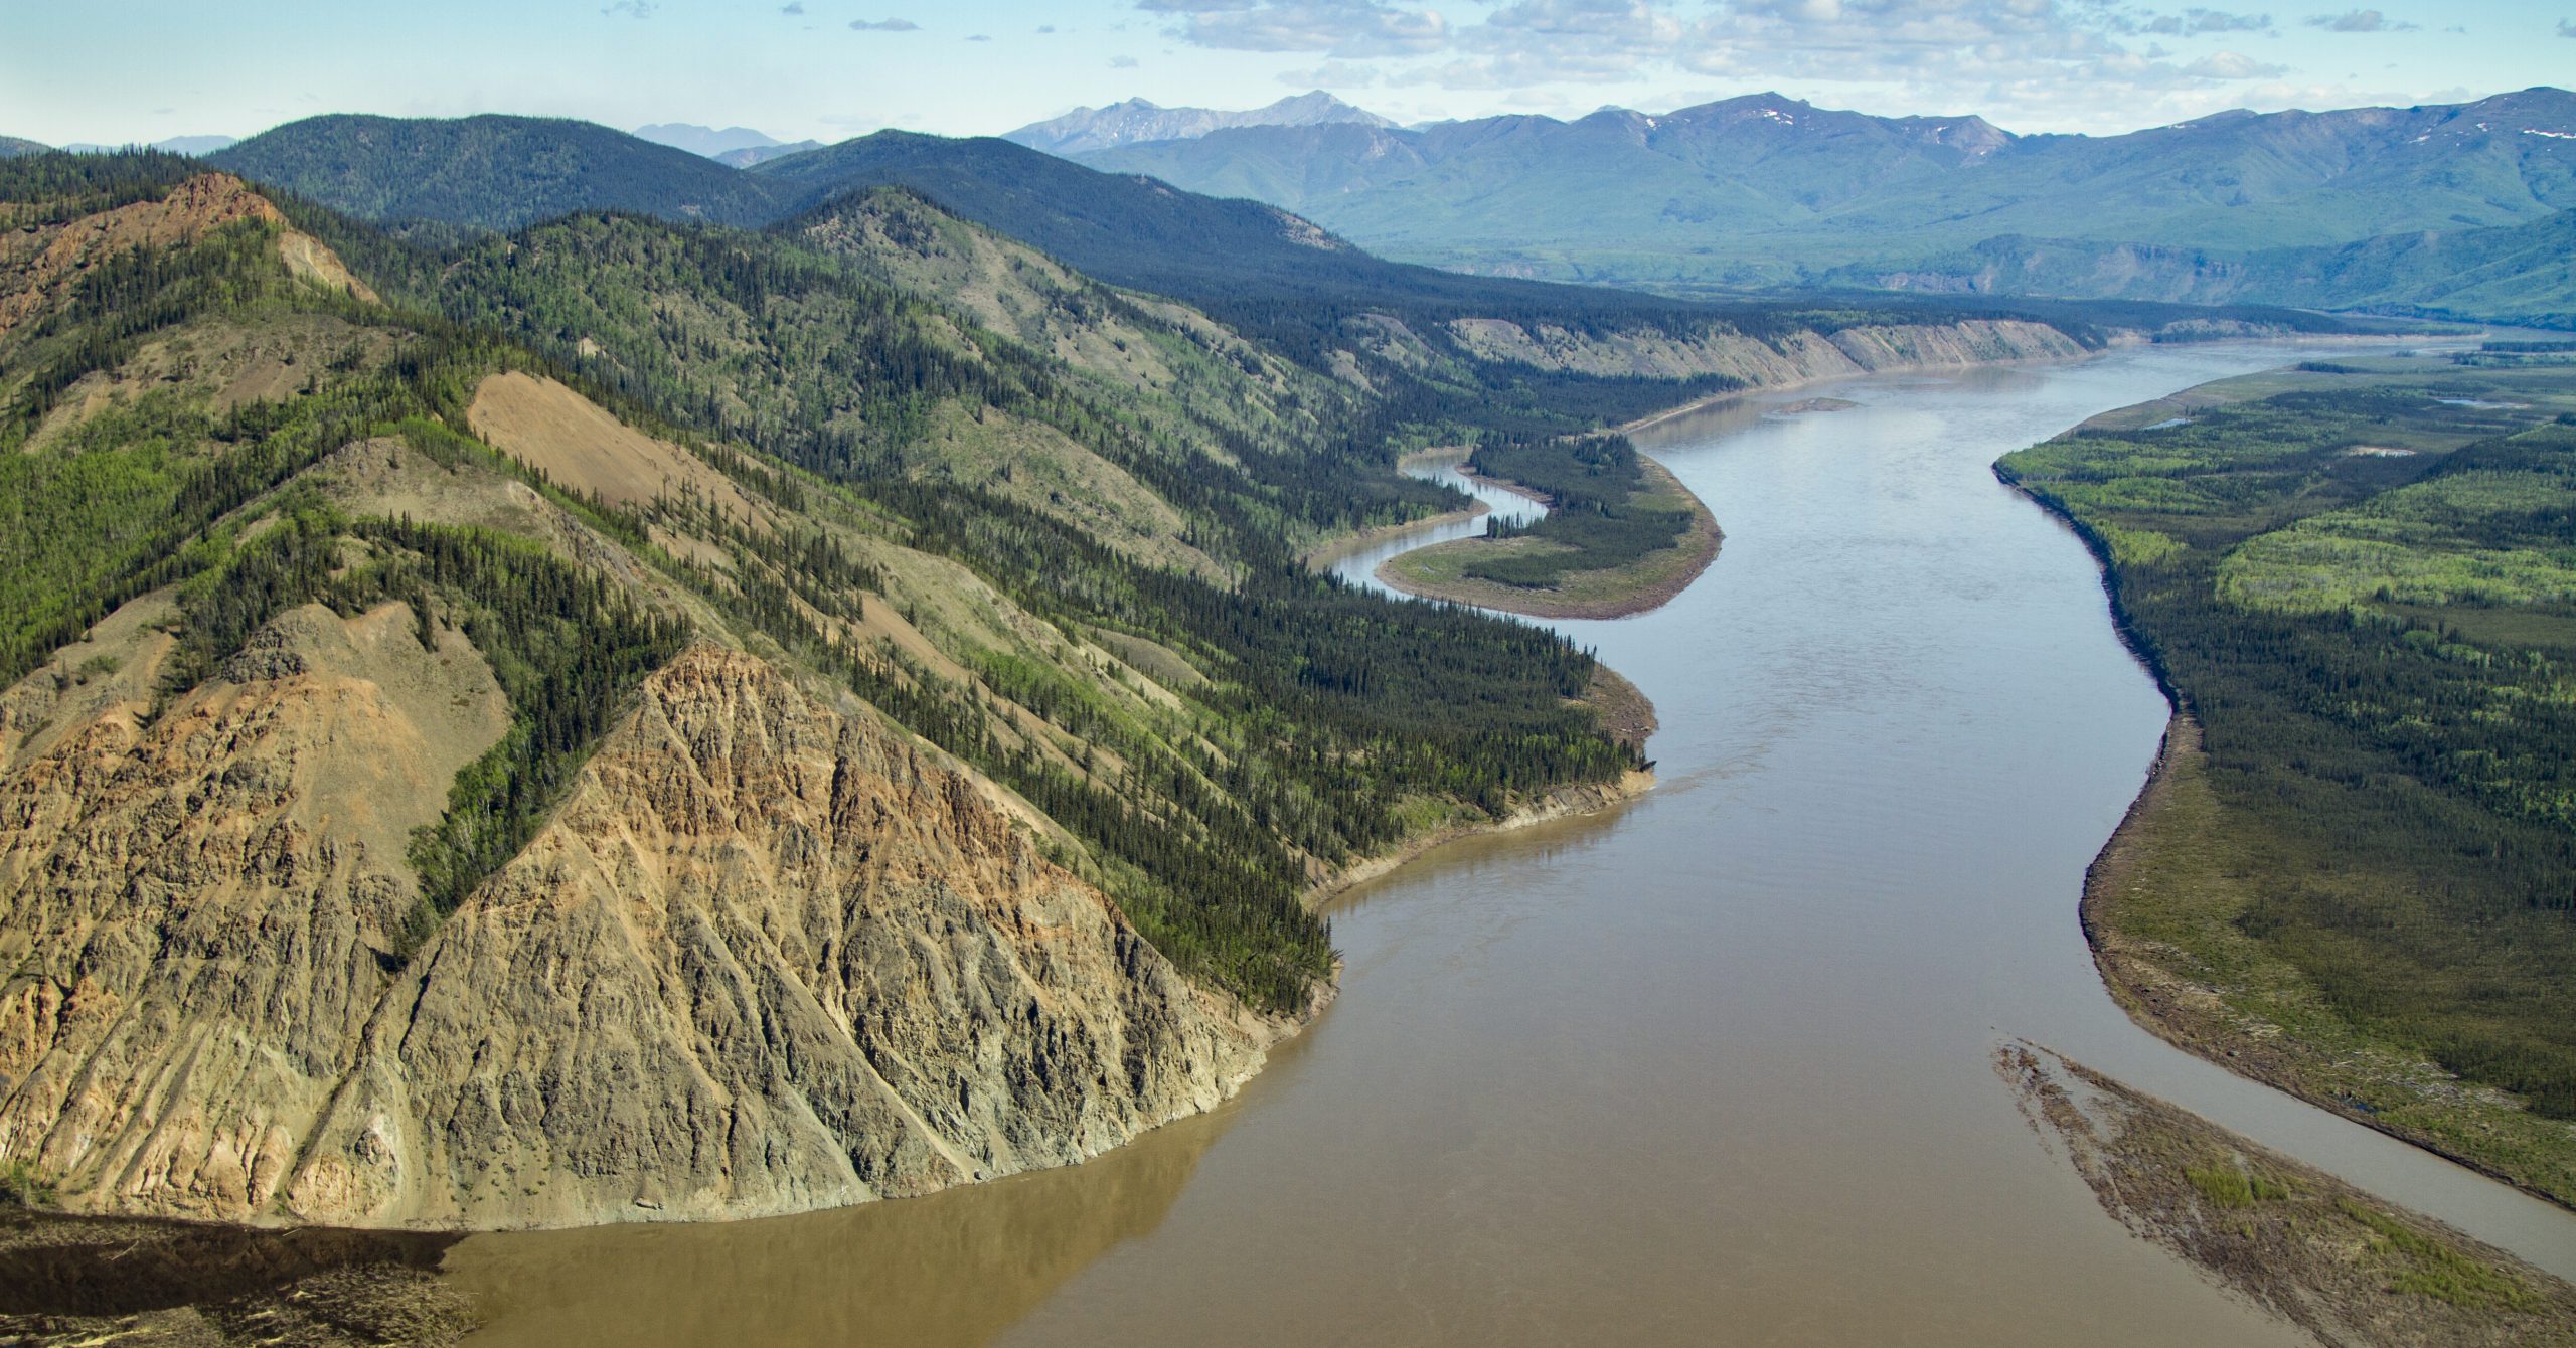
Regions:
M 1275 1034 L 979 784 L 721 647 L 652 675 L 544 833 L 381 959 L 399 838 L 502 724 L 404 737 L 433 714 L 407 675 L 340 655 L 412 642 L 402 606 L 289 619 L 147 727 L 85 704 L 21 740 L 49 747 L 0 781 L 0 1157 L 77 1206 L 505 1227 L 920 1193 L 1213 1106 Z M 446 642 L 471 668 L 443 704 L 492 714 Z

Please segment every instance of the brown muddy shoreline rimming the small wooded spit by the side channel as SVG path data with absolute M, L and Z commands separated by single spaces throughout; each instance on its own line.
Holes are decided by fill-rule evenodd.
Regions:
M 1504 585 L 1466 575 L 1473 562 L 1512 554 L 1566 554 L 1564 544 L 1540 536 L 1517 539 L 1453 539 L 1391 557 L 1378 567 L 1378 583 L 1417 598 L 1443 598 L 1499 608 L 1528 619 L 1625 619 L 1651 613 L 1690 588 L 1710 562 L 1718 559 L 1723 531 L 1682 479 L 1664 464 L 1638 456 L 1643 490 L 1633 497 L 1641 508 L 1690 510 L 1690 526 L 1674 546 L 1651 552 L 1625 567 L 1566 572 L 1546 588 Z M 1486 479 L 1494 482 L 1494 479 Z M 1497 482 L 1512 487 L 1507 482 Z M 1525 492 L 1528 495 L 1528 492 Z

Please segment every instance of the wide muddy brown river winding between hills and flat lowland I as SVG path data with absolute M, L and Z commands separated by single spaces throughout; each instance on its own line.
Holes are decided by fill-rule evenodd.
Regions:
M 2308 1343 L 2099 1211 L 1989 1067 L 2007 1039 L 2576 1276 L 2576 1217 L 2164 1046 L 2076 928 L 2164 701 L 1989 464 L 2300 356 L 1656 425 L 1726 546 L 1656 613 L 1561 624 L 1654 698 L 1656 791 L 1342 897 L 1340 1003 L 1211 1116 L 930 1199 L 471 1237 L 474 1343 Z M 1826 394 L 1857 407 L 1777 410 Z

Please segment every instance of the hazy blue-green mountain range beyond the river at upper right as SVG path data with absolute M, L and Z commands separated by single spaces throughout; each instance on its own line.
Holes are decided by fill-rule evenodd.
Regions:
M 2017 137 L 1978 116 L 1880 119 L 1775 93 L 1664 116 L 1497 116 L 1422 129 L 1231 126 L 1072 152 L 1298 211 L 1394 258 L 1664 289 L 1865 284 L 1950 291 L 2380 304 L 2488 317 L 2576 309 L 2563 278 L 2450 286 L 2545 242 L 2576 206 L 2576 95 L 2215 113 L 2123 137 Z M 2527 245 L 2463 232 L 2540 227 Z M 2398 281 L 2357 258 L 2411 253 Z M 2066 253 L 2099 265 L 2069 265 Z M 2190 268 L 2172 253 L 2202 258 Z M 2326 250 L 2326 253 L 2300 253 Z M 2043 258 L 1991 265 L 1994 258 Z M 2154 255 L 2128 265 L 2125 258 Z M 2210 286 L 2210 273 L 2226 273 Z

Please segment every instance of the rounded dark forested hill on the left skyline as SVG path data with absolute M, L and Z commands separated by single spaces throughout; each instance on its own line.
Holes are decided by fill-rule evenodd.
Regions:
M 600 206 L 716 224 L 775 214 L 742 170 L 590 121 L 538 116 L 312 116 L 206 162 L 363 219 L 477 229 Z

